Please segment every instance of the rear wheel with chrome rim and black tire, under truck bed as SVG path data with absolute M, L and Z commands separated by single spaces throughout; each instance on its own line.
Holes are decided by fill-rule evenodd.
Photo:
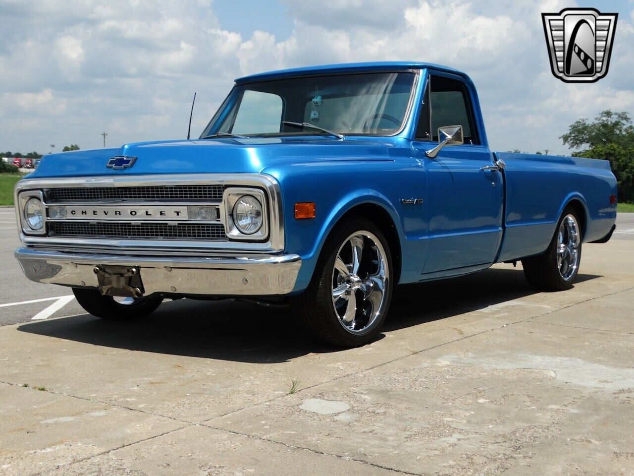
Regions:
M 581 227 L 576 211 L 567 207 L 559 218 L 555 236 L 539 256 L 522 260 L 524 275 L 533 288 L 563 291 L 573 287 L 581 262 Z

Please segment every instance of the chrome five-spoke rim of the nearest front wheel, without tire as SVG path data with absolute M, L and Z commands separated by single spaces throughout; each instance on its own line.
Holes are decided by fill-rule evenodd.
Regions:
M 388 289 L 385 249 L 368 231 L 359 231 L 340 246 L 332 272 L 332 304 L 351 334 L 369 332 L 382 315 Z

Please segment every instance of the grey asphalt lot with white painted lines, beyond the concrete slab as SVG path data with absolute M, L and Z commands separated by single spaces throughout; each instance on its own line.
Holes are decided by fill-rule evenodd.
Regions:
M 634 240 L 634 213 L 618 215 L 617 231 L 612 239 Z M 19 244 L 13 209 L 0 208 L 0 326 L 29 322 L 34 317 L 37 321 L 83 314 L 69 288 L 38 284 L 24 277 L 13 258 L 13 251 Z M 185 300 L 179 308 L 191 304 Z

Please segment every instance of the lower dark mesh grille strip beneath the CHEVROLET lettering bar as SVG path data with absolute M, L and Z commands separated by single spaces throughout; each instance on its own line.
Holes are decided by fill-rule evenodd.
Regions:
M 86 221 L 53 221 L 49 236 L 120 239 L 177 239 L 226 241 L 221 223 L 94 223 Z

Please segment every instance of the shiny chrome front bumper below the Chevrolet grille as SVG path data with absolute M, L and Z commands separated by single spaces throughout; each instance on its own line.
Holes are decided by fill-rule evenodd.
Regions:
M 137 267 L 145 289 L 153 293 L 209 296 L 288 294 L 295 286 L 302 260 L 298 255 L 231 258 L 204 256 L 115 256 L 18 248 L 15 257 L 35 282 L 77 288 L 98 288 L 94 267 Z

